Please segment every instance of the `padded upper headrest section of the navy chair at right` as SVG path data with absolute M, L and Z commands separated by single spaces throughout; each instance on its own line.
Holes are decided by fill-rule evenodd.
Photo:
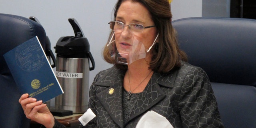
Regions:
M 211 82 L 256 85 L 256 20 L 184 18 L 172 22 L 190 64 Z

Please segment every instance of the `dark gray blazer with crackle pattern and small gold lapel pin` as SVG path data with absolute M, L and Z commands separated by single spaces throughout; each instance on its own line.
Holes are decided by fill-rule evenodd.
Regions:
M 174 128 L 223 128 L 209 78 L 202 68 L 182 62 L 169 73 L 152 75 L 128 123 L 123 123 L 122 92 L 125 70 L 99 72 L 90 87 L 89 108 L 96 114 L 86 128 L 135 128 L 153 110 Z M 114 89 L 109 94 L 109 89 Z

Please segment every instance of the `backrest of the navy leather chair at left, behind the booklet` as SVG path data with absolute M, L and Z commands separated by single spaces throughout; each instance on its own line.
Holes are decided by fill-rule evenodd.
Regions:
M 38 36 L 45 48 L 46 34 L 39 23 L 22 16 L 0 14 L 0 128 L 28 128 L 30 125 L 18 102 L 21 94 L 3 54 L 34 36 Z

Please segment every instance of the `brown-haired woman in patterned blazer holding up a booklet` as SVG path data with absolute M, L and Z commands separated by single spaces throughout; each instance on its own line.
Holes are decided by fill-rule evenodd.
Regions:
M 114 66 L 99 72 L 90 87 L 96 117 L 86 128 L 135 128 L 149 114 L 168 127 L 223 127 L 208 76 L 186 62 L 171 18 L 168 0 L 118 0 L 103 53 Z M 19 102 L 28 118 L 64 127 L 42 101 L 24 94 Z

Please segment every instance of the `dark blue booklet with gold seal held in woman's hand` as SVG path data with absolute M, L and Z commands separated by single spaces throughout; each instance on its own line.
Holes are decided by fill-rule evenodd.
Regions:
M 46 102 L 64 93 L 37 36 L 6 52 L 4 59 L 21 94 Z

